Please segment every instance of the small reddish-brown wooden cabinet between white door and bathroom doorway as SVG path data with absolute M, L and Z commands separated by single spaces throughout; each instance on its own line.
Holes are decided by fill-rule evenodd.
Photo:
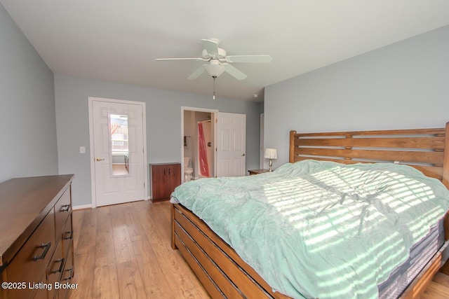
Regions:
M 173 190 L 181 183 L 181 164 L 157 163 L 149 167 L 152 177 L 152 202 L 169 200 Z

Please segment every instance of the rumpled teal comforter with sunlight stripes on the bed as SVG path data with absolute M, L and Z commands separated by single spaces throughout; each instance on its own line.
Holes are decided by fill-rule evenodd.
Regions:
M 377 285 L 449 209 L 413 167 L 304 160 L 255 176 L 199 179 L 172 194 L 275 291 L 377 298 Z

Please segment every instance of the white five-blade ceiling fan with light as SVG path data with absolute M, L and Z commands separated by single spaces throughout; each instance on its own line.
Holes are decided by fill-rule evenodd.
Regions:
M 203 64 L 199 69 L 196 69 L 189 77 L 188 80 L 194 80 L 198 78 L 204 71 L 207 71 L 212 78 L 217 78 L 225 71 L 234 76 L 237 80 L 243 80 L 246 78 L 246 74 L 243 74 L 239 69 L 236 69 L 229 63 L 269 63 L 272 61 L 272 57 L 269 55 L 230 55 L 227 56 L 227 53 L 222 48 L 218 48 L 217 39 L 201 39 L 203 42 L 203 52 L 201 53 L 201 58 L 160 58 L 156 59 L 156 61 L 163 60 L 196 60 L 208 62 Z

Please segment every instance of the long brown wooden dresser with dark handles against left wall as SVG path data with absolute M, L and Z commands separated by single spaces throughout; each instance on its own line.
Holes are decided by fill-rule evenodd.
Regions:
M 0 299 L 65 298 L 74 274 L 74 176 L 0 183 Z

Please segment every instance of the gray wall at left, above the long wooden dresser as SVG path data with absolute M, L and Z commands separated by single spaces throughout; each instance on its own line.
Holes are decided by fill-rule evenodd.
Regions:
M 53 73 L 0 4 L 0 182 L 58 174 Z

